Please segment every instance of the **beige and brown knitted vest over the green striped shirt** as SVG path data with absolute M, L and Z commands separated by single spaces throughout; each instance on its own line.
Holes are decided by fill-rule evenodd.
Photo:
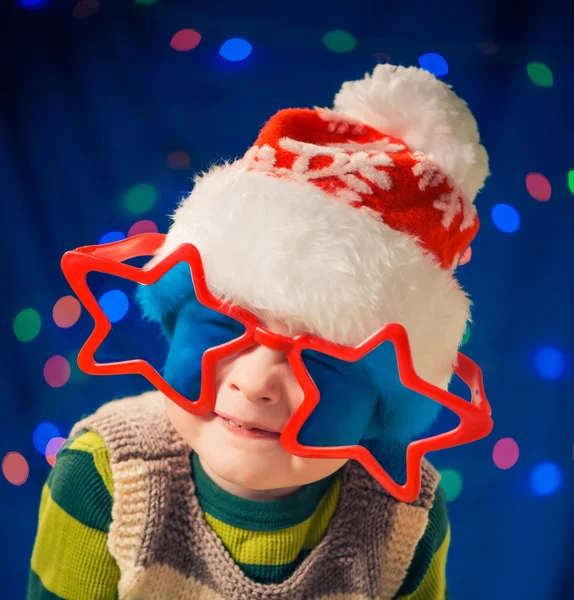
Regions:
M 120 569 L 120 600 L 391 600 L 422 537 L 440 475 L 423 460 L 410 504 L 360 465 L 343 467 L 339 505 L 325 537 L 280 584 L 249 579 L 203 517 L 190 448 L 158 391 L 113 400 L 78 421 L 110 450 L 114 481 L 108 547 Z

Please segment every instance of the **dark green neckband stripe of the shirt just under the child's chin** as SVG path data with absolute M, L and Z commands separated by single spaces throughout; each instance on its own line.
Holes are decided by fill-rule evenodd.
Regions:
M 337 472 L 305 485 L 286 498 L 260 502 L 234 496 L 216 485 L 203 470 L 195 452 L 190 453 L 196 496 L 203 512 L 232 527 L 250 531 L 276 531 L 309 519 Z

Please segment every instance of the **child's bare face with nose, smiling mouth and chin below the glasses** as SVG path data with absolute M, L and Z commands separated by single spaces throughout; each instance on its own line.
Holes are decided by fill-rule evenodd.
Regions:
M 262 325 L 288 335 L 280 321 L 262 321 Z M 328 477 L 347 462 L 300 458 L 281 446 L 279 432 L 303 401 L 303 390 L 285 353 L 255 344 L 219 361 L 215 383 L 215 410 L 210 415 L 192 415 L 168 398 L 166 411 L 206 473 L 228 492 L 252 500 L 274 500 Z M 276 433 L 259 437 L 233 428 L 222 414 Z

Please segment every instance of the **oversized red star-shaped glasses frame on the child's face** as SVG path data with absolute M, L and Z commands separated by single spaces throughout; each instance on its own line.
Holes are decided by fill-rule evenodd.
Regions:
M 491 409 L 484 393 L 482 372 L 478 365 L 458 353 L 455 373 L 471 391 L 471 401 L 442 390 L 424 381 L 415 372 L 409 339 L 405 328 L 399 323 L 389 323 L 355 347 L 341 346 L 312 335 L 295 338 L 276 334 L 261 326 L 259 319 L 242 307 L 231 305 L 215 297 L 207 287 L 203 263 L 198 249 L 190 243 L 182 244 L 153 267 L 138 268 L 124 264 L 132 258 L 152 256 L 163 245 L 164 234 L 144 233 L 111 244 L 84 246 L 66 252 L 61 266 L 66 279 L 78 299 L 94 318 L 94 330 L 78 354 L 78 366 L 92 375 L 119 375 L 139 373 L 158 390 L 184 410 L 206 415 L 215 407 L 215 369 L 219 360 L 241 352 L 255 343 L 285 352 L 297 380 L 304 392 L 304 399 L 293 414 L 280 437 L 283 448 L 295 456 L 304 458 L 354 459 L 395 498 L 402 502 L 414 501 L 421 489 L 422 459 L 427 452 L 435 452 L 467 444 L 486 437 L 492 430 Z M 145 360 L 135 359 L 114 363 L 97 363 L 94 354 L 111 330 L 111 323 L 91 293 L 87 274 L 91 271 L 108 273 L 143 285 L 156 283 L 180 262 L 188 263 L 197 300 L 245 326 L 245 333 L 230 342 L 206 350 L 202 358 L 201 395 L 195 402 L 174 390 L 164 378 Z M 406 482 L 399 485 L 378 463 L 366 448 L 358 445 L 335 447 L 304 446 L 297 442 L 298 434 L 309 415 L 317 406 L 320 393 L 301 358 L 303 350 L 317 350 L 332 357 L 354 362 L 384 341 L 395 347 L 401 383 L 411 390 L 427 396 L 460 418 L 459 425 L 446 433 L 412 441 L 406 450 Z M 349 407 L 352 410 L 352 405 Z

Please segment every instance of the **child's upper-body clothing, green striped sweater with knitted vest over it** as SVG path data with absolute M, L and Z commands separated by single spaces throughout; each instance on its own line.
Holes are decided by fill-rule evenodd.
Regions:
M 354 461 L 273 502 L 216 486 L 159 392 L 78 422 L 42 490 L 28 599 L 443 600 L 450 528 L 423 461 L 411 504 Z

